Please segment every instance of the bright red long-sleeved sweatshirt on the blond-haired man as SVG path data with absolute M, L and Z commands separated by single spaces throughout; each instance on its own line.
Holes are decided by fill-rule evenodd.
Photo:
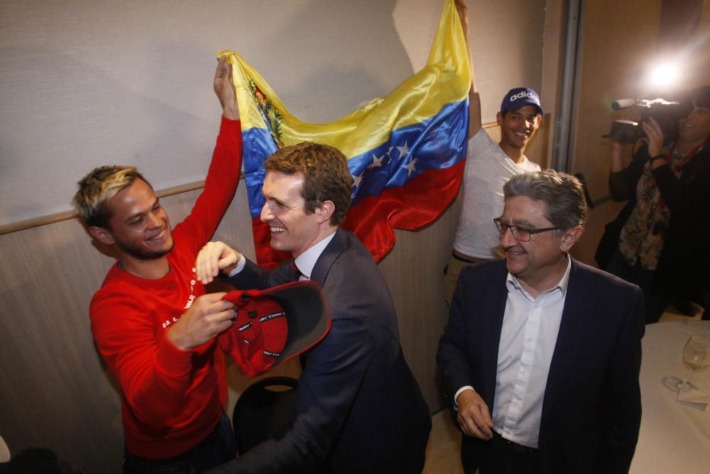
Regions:
M 141 279 L 116 263 L 92 298 L 94 340 L 121 384 L 126 446 L 143 458 L 170 458 L 196 446 L 226 404 L 224 355 L 216 341 L 182 351 L 165 334 L 204 294 L 195 258 L 234 198 L 240 171 L 240 123 L 222 117 L 204 190 L 173 229 L 168 274 Z

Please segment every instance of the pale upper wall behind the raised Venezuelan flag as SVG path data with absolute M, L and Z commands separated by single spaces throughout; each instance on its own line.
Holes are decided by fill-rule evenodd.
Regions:
M 542 0 L 469 1 L 484 119 L 540 81 Z M 0 225 L 70 210 L 94 166 L 200 181 L 236 50 L 291 112 L 329 122 L 425 64 L 443 0 L 0 2 Z M 544 98 L 543 98 L 544 102 Z

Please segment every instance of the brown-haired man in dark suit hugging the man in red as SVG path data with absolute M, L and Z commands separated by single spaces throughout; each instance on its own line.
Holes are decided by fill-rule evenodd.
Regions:
M 420 473 L 431 418 L 400 348 L 387 284 L 368 249 L 339 228 L 352 189 L 345 156 L 303 143 L 277 151 L 265 167 L 261 220 L 271 247 L 293 260 L 266 271 L 212 242 L 198 257 L 198 278 L 222 270 L 239 289 L 312 279 L 332 326 L 302 357 L 288 428 L 210 472 Z

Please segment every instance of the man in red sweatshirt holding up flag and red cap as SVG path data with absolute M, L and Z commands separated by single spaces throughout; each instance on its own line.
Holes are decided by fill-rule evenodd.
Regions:
M 224 414 L 224 354 L 215 335 L 234 321 L 224 293 L 205 294 L 195 257 L 229 207 L 241 169 L 231 66 L 219 58 L 223 117 L 204 191 L 173 230 L 153 188 L 131 166 L 102 166 L 74 204 L 118 261 L 94 294 L 92 333 L 121 384 L 124 473 L 199 473 L 236 456 Z

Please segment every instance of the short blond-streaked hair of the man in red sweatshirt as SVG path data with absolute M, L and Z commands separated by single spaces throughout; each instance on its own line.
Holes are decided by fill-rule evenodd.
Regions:
M 107 165 L 94 168 L 77 183 L 79 190 L 72 204 L 87 225 L 108 228 L 111 215 L 107 203 L 121 190 L 132 185 L 136 178 L 146 181 L 133 166 Z M 151 185 L 148 181 L 146 184 Z

